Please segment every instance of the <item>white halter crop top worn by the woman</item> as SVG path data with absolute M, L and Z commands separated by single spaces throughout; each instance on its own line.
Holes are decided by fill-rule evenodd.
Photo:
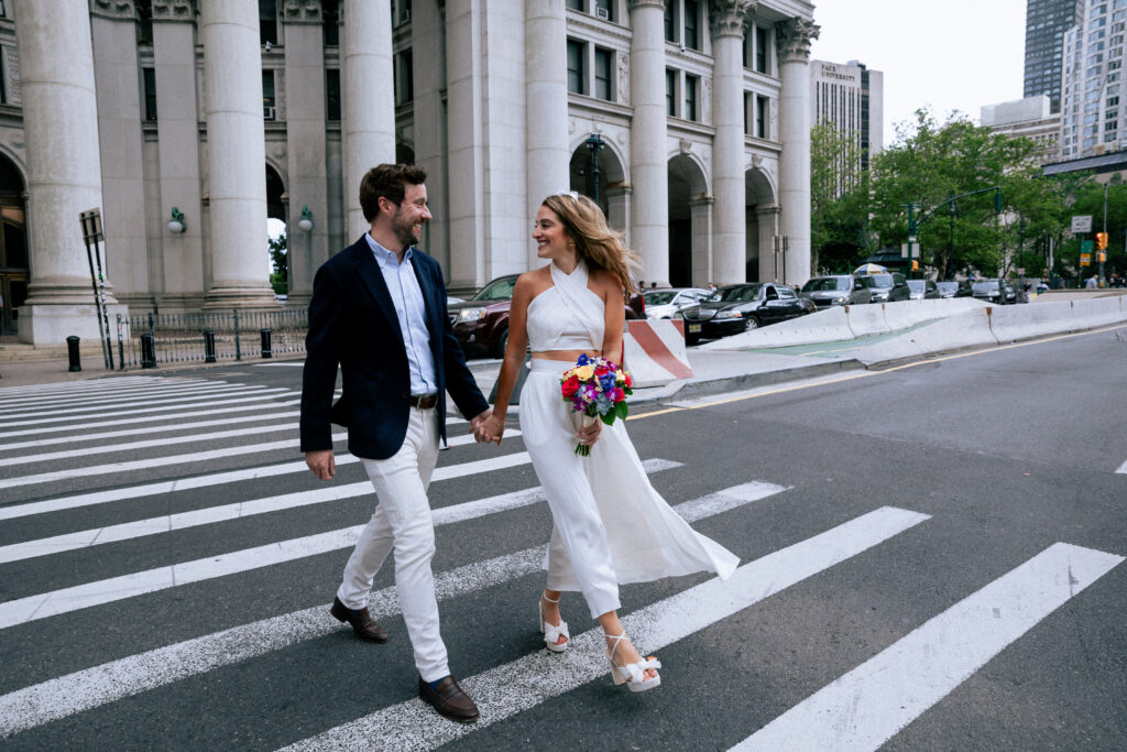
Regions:
M 571 274 L 556 264 L 548 268 L 552 286 L 529 303 L 526 329 L 532 352 L 602 350 L 605 307 L 603 299 L 587 289 L 587 265 L 580 259 Z

